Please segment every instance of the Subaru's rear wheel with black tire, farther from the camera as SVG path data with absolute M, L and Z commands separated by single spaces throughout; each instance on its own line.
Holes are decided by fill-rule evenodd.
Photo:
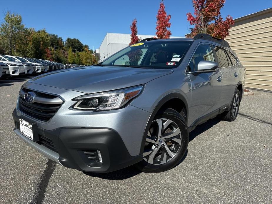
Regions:
M 229 121 L 229 122 L 235 121 L 239 112 L 240 102 L 241 102 L 241 93 L 238 89 L 236 89 L 233 99 L 231 101 L 230 110 L 222 113 L 222 119 L 224 121 Z

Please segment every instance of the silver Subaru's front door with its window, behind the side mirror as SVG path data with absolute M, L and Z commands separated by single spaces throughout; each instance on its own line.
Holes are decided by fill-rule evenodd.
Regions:
M 187 74 L 192 86 L 192 102 L 188 124 L 193 126 L 202 117 L 213 113 L 221 106 L 222 74 L 218 68 L 212 71 L 198 71 L 197 66 L 200 61 L 216 62 L 210 44 L 198 45 L 187 67 Z

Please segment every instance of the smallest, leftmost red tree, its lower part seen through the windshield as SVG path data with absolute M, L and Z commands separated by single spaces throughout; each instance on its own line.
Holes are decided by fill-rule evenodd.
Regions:
M 136 44 L 140 41 L 139 37 L 137 36 L 138 34 L 138 29 L 137 29 L 137 20 L 134 19 L 131 23 L 130 26 L 130 30 L 131 30 L 131 34 L 130 34 L 130 44 Z M 129 57 L 129 62 L 130 65 L 138 65 L 138 61 L 141 60 L 141 56 L 143 54 L 143 51 L 141 49 L 136 49 L 135 51 L 132 51 L 130 53 L 128 53 L 128 57 Z

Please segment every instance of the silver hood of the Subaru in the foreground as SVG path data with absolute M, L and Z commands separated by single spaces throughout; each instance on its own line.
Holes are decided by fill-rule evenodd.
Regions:
M 96 93 L 145 84 L 172 72 L 172 69 L 92 66 L 45 73 L 29 82 L 83 93 Z

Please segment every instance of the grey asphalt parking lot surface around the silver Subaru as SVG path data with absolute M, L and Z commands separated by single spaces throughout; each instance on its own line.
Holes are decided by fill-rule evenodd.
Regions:
M 13 133 L 27 79 L 0 80 L 0 203 L 272 203 L 272 93 L 244 96 L 234 122 L 198 126 L 167 172 L 99 174 L 58 165 Z

